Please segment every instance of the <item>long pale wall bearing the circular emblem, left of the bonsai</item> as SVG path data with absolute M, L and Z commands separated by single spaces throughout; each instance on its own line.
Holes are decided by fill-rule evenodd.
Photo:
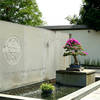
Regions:
M 54 79 L 67 34 L 0 21 L 0 91 Z M 65 61 L 66 60 L 66 61 Z

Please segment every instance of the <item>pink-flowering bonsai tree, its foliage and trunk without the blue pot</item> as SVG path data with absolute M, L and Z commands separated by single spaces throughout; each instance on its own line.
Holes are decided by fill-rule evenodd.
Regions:
M 88 55 L 88 53 L 85 52 L 84 49 L 82 48 L 80 42 L 74 38 L 70 38 L 66 42 L 66 44 L 63 48 L 65 49 L 63 56 L 72 55 L 74 58 L 74 65 L 79 65 L 79 62 L 77 59 L 78 55 L 81 55 L 81 56 Z

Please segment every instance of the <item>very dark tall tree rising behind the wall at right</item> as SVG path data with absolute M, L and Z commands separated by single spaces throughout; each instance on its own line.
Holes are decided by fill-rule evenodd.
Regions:
M 84 0 L 79 16 L 67 17 L 71 24 L 84 24 L 100 30 L 100 0 Z

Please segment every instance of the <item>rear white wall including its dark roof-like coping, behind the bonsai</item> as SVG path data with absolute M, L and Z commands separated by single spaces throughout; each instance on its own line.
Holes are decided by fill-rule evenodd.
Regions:
M 77 39 L 88 52 L 88 56 L 79 56 L 80 63 L 89 62 L 100 66 L 100 31 L 93 30 L 85 25 L 43 26 L 42 28 L 55 31 L 56 34 L 59 32 L 66 35 L 71 34 L 71 37 Z

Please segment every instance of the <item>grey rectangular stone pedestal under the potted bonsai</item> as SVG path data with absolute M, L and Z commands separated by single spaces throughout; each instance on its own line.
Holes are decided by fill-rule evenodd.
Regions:
M 84 69 L 83 71 L 56 71 L 56 82 L 69 86 L 86 86 L 95 82 L 95 71 Z

